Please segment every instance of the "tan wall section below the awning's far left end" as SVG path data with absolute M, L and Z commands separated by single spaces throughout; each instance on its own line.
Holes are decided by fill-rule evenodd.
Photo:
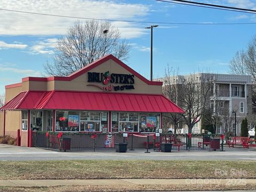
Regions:
M 6 111 L 5 131 L 17 131 L 21 129 L 21 111 Z

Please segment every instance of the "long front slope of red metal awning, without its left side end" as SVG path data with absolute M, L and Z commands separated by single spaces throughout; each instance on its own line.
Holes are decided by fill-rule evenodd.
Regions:
M 37 109 L 184 113 L 161 94 L 54 91 Z

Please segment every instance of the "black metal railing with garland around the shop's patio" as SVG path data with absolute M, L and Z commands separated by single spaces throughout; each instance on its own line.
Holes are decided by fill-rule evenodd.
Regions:
M 148 136 L 147 136 L 148 135 Z M 144 136 L 144 137 L 143 137 Z M 57 150 L 115 150 L 115 143 L 127 143 L 127 149 L 160 149 L 161 143 L 172 143 L 172 150 L 223 150 L 220 135 L 129 133 L 61 133 L 39 132 L 33 137 L 35 147 Z

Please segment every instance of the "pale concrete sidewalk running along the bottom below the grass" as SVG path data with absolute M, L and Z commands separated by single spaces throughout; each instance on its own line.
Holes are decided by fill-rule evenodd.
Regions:
M 50 186 L 99 186 L 99 185 L 246 185 L 256 179 L 70 179 L 70 180 L 0 180 L 0 186 L 50 187 Z

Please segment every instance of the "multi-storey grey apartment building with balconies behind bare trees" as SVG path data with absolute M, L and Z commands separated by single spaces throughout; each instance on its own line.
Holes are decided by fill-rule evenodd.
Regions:
M 178 75 L 175 77 L 169 77 L 168 83 L 179 87 L 182 86 L 182 82 L 190 76 L 191 75 Z M 200 85 L 199 82 L 201 82 L 202 79 L 207 79 L 207 81 L 211 83 L 211 94 L 208 107 L 212 110 L 212 115 L 219 117 L 228 115 L 231 117 L 230 122 L 232 123 L 231 126 L 233 126 L 233 135 L 239 135 L 241 132 L 242 120 L 246 117 L 246 115 L 252 113 L 251 76 L 210 74 L 209 78 L 209 74 L 200 73 L 195 74 L 195 79 L 195 82 L 197 82 L 198 85 Z M 164 82 L 163 90 L 165 91 L 166 79 L 162 78 L 159 79 L 159 81 L 160 80 Z M 179 88 L 177 90 L 179 90 Z M 177 97 L 181 97 L 181 95 L 179 95 L 179 91 L 177 91 Z M 176 101 L 175 103 L 182 108 L 182 103 L 179 103 L 179 101 Z M 225 126 L 224 124 L 224 122 L 219 122 L 215 132 L 223 133 L 223 126 Z M 200 133 L 201 126 L 202 121 L 198 121 L 192 129 L 192 133 Z M 182 125 L 182 127 L 181 133 L 187 133 L 188 129 L 186 125 Z

